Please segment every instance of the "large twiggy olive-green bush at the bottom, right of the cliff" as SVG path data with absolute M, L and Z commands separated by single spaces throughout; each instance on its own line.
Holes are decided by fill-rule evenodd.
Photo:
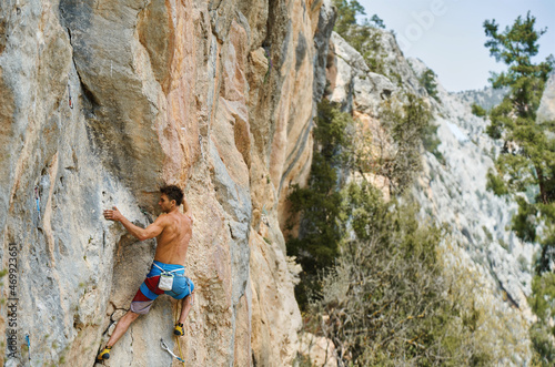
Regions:
M 321 277 L 306 328 L 332 339 L 349 366 L 490 365 L 471 287 L 443 274 L 443 231 L 421 224 L 414 204 L 384 202 L 369 183 L 344 193 L 355 236 Z

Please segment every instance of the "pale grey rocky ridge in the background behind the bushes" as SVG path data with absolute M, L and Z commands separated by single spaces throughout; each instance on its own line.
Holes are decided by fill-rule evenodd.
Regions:
M 521 365 L 531 358 L 528 327 L 534 316 L 526 296 L 531 294 L 531 264 L 538 245 L 524 243 L 509 231 L 516 203 L 486 190 L 486 173 L 494 167 L 493 157 L 501 146 L 485 134 L 487 121 L 471 113 L 472 103 L 487 108 L 500 95 L 487 90 L 448 93 L 438 84 L 437 98 L 431 98 L 414 82 L 426 65 L 420 60 L 405 60 L 398 47 L 392 47 L 393 35 L 383 34 L 383 48 L 390 49 L 387 58 L 396 60 L 389 63 L 393 77 L 371 72 L 356 50 L 339 34 L 332 35 L 329 98 L 370 126 L 374 139 L 384 134 L 380 124 L 384 101 L 408 91 L 428 103 L 441 155 L 423 152 L 424 172 L 413 194 L 423 218 L 447 224 L 451 235 L 444 245 L 445 258 L 453 271 L 472 279 L 480 289 L 478 300 L 488 310 L 486 319 L 491 323 L 483 327 L 492 330 L 492 347 L 503 355 L 503 348 L 511 345 L 514 351 L 505 361 Z M 548 103 L 543 101 L 543 106 Z M 387 194 L 385 179 L 374 177 L 374 182 L 381 183 Z

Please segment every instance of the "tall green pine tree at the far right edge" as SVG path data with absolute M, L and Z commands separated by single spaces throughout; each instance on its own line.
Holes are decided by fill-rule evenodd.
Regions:
M 484 22 L 488 37 L 485 45 L 491 55 L 507 65 L 507 71 L 492 74 L 494 88 L 509 89 L 503 102 L 491 113 L 487 133 L 504 140 L 504 149 L 497 159 L 500 177 L 506 185 L 491 180 L 492 186 L 509 193 L 526 193 L 516 196 L 518 213 L 513 217 L 513 230 L 525 241 L 539 241 L 543 249 L 536 264 L 537 275 L 533 284 L 531 305 L 538 322 L 531 328 L 531 339 L 536 363 L 553 366 L 555 361 L 554 330 L 547 325 L 552 315 L 547 302 L 555 299 L 552 269 L 555 249 L 555 122 L 538 123 L 536 112 L 547 81 L 554 68 L 554 58 L 534 63 L 538 52 L 538 39 L 545 29 L 535 29 L 536 19 L 529 14 L 518 17 L 513 26 L 500 31 L 492 21 Z M 492 177 L 490 177 L 492 179 Z M 529 193 L 535 193 L 532 197 Z M 536 228 L 543 226 L 538 237 Z M 548 300 L 551 299 L 551 300 Z

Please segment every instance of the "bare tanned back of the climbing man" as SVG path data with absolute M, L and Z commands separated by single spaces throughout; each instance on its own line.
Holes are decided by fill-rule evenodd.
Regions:
M 186 249 L 192 236 L 192 218 L 178 211 L 162 214 L 164 228 L 157 237 L 154 259 L 164 264 L 185 265 Z

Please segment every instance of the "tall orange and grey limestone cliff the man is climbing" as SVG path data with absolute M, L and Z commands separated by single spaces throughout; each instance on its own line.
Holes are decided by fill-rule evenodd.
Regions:
M 93 364 L 155 246 L 101 212 L 148 225 L 162 182 L 194 217 L 188 365 L 292 361 L 280 224 L 309 173 L 333 20 L 322 0 L 0 3 L 0 258 L 17 262 L 3 297 L 19 299 L 17 326 L 2 306 L 7 366 Z M 179 354 L 175 310 L 158 299 L 104 365 L 176 364 L 159 346 Z

